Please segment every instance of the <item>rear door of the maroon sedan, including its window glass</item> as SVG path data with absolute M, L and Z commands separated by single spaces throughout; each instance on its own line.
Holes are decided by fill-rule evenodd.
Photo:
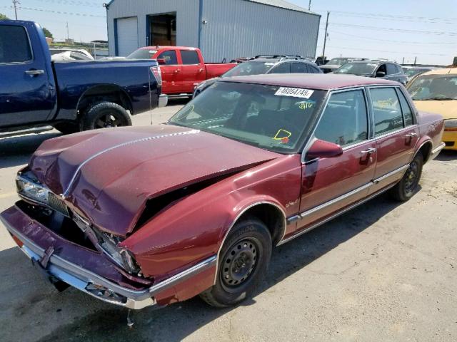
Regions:
M 378 152 L 373 193 L 403 177 L 413 158 L 418 125 L 401 87 L 372 87 L 368 93 Z

